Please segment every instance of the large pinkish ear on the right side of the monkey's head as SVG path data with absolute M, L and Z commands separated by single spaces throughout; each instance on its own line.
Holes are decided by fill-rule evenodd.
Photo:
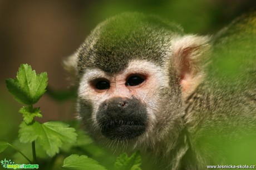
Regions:
M 200 84 L 208 60 L 209 37 L 186 35 L 173 40 L 175 68 L 186 97 Z

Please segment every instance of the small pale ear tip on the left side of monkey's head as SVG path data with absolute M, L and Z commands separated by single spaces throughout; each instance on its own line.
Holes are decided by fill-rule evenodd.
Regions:
M 73 78 L 77 77 L 77 54 L 74 53 L 68 56 L 62 62 L 63 68 L 70 73 Z

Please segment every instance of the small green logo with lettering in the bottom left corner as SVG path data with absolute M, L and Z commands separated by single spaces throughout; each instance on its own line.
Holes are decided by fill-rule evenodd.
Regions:
M 38 169 L 39 166 L 38 164 L 14 164 L 13 161 L 11 161 L 11 159 L 6 159 L 4 158 L 4 160 L 1 161 L 1 165 L 3 166 L 3 168 L 7 168 L 7 169 Z

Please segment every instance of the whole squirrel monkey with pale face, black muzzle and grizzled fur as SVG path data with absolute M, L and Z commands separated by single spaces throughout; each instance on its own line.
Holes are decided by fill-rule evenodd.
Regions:
M 140 13 L 107 19 L 65 61 L 86 131 L 158 168 L 232 163 L 230 145 L 256 142 L 255 35 L 255 11 L 211 37 Z

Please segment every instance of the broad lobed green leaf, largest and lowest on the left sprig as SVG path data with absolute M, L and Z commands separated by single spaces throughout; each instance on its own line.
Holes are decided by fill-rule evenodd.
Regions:
M 19 141 L 27 143 L 36 140 L 48 156 L 54 156 L 59 152 L 63 142 L 76 142 L 75 129 L 68 126 L 66 123 L 57 121 L 43 124 L 35 121 L 31 125 L 22 122 L 19 126 Z

